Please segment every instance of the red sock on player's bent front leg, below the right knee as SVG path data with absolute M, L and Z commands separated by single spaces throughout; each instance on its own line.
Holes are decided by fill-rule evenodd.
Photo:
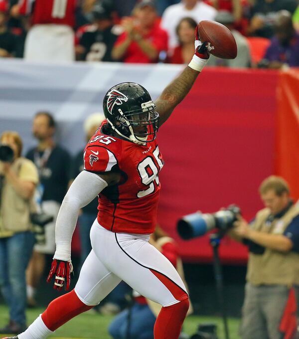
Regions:
M 189 309 L 189 299 L 162 307 L 153 328 L 154 339 L 177 339 Z

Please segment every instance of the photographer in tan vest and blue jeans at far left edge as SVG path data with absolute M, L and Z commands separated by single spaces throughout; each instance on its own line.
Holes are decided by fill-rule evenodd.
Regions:
M 0 333 L 13 334 L 26 329 L 25 270 L 34 244 L 30 212 L 38 173 L 21 157 L 22 140 L 16 132 L 3 132 L 0 143 L 13 151 L 11 159 L 0 161 L 0 288 L 9 309 L 9 324 Z

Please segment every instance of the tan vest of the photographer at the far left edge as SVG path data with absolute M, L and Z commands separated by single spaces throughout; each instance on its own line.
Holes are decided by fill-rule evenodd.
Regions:
M 11 169 L 19 176 L 20 169 L 26 162 L 30 160 L 18 158 L 11 164 Z M 0 198 L 0 237 L 9 237 L 14 233 L 29 230 L 32 226 L 30 212 L 35 211 L 33 198 L 21 197 L 5 179 Z

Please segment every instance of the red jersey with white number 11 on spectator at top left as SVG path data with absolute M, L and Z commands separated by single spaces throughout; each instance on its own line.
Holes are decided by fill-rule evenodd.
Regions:
M 73 27 L 77 0 L 19 0 L 20 13 L 33 8 L 32 24 L 56 23 Z

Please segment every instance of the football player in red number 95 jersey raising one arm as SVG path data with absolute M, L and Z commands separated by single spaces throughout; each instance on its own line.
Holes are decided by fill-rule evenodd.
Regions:
M 197 33 L 197 27 L 196 27 Z M 47 281 L 70 287 L 71 238 L 79 209 L 99 195 L 90 232 L 92 250 L 70 293 L 53 300 L 28 329 L 13 339 L 43 339 L 99 304 L 124 280 L 162 305 L 154 339 L 177 339 L 189 308 L 186 288 L 171 263 L 151 244 L 164 162 L 155 136 L 191 89 L 209 58 L 196 34 L 189 65 L 153 102 L 141 85 L 112 87 L 103 101 L 106 120 L 84 150 L 84 169 L 73 181 L 56 222 L 56 252 Z

